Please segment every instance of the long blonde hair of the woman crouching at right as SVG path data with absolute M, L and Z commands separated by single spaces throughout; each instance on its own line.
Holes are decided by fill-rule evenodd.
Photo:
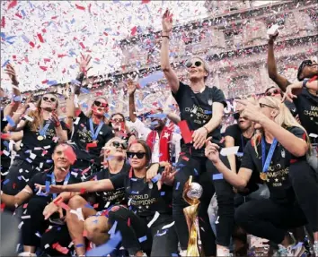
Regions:
M 259 100 L 259 103 L 260 101 L 262 104 L 266 104 L 269 107 L 273 107 L 274 109 L 277 109 L 279 111 L 278 115 L 274 118 L 274 122 L 276 124 L 282 126 L 285 129 L 290 127 L 301 128 L 305 132 L 305 138 L 308 145 L 308 150 L 311 150 L 310 140 L 305 128 L 296 121 L 295 117 L 291 114 L 291 112 L 289 111 L 289 109 L 286 107 L 284 103 L 282 103 L 279 99 L 273 98 L 273 97 L 264 97 Z M 261 142 L 262 135 L 263 135 L 263 131 L 261 131 L 260 133 L 256 133 L 251 139 L 252 145 L 254 146 L 254 149 L 257 154 L 258 154 L 257 146 Z

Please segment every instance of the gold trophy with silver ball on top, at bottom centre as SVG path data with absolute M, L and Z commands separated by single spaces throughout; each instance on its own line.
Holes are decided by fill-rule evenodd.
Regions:
M 187 249 L 187 256 L 200 256 L 199 251 L 199 219 L 198 219 L 198 207 L 199 198 L 202 195 L 202 186 L 199 183 L 192 182 L 192 176 L 184 184 L 183 187 L 183 199 L 187 201 L 190 206 L 183 209 L 184 215 L 187 220 L 189 229 L 189 242 Z M 201 254 L 203 255 L 203 254 Z

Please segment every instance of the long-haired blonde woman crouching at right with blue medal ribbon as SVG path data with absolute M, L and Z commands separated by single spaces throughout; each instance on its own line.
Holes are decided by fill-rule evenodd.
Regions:
M 318 249 L 318 184 L 314 169 L 306 162 L 310 142 L 305 129 L 275 98 L 260 99 L 259 107 L 246 104 L 242 116 L 262 132 L 245 147 L 238 174 L 219 159 L 216 144 L 209 142 L 206 148 L 207 157 L 235 187 L 244 188 L 254 172 L 269 186 L 269 199 L 250 201 L 236 210 L 237 223 L 247 233 L 278 244 L 278 253 L 292 256 L 294 242 L 287 229 L 308 222 Z

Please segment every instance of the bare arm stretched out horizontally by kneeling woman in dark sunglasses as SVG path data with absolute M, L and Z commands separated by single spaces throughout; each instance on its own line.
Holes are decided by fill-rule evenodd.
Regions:
M 114 186 L 110 179 L 102 179 L 97 181 L 86 181 L 77 184 L 66 185 L 50 185 L 49 193 L 62 193 L 62 192 L 99 192 L 99 191 L 112 191 Z

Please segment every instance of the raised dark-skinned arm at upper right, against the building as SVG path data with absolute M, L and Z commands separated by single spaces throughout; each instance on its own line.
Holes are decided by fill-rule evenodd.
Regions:
M 289 81 L 287 81 L 287 78 L 284 76 L 278 74 L 278 69 L 276 66 L 275 56 L 274 56 L 274 41 L 277 38 L 278 34 L 276 36 L 270 36 L 269 38 L 269 51 L 267 56 L 267 68 L 269 73 L 269 78 L 274 81 L 280 90 L 284 91 L 286 90 L 287 86 L 290 84 Z

